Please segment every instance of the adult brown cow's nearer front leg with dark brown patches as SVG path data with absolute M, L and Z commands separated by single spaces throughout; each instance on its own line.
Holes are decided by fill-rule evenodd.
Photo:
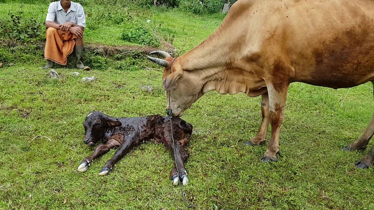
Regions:
M 269 145 L 261 160 L 264 163 L 268 161 L 278 161 L 276 155 L 279 152 L 279 132 L 281 131 L 281 125 L 284 117 L 284 109 L 286 105 L 286 98 L 288 92 L 289 83 L 273 84 L 268 85 L 267 90 L 269 93 L 269 118 L 270 125 L 272 126 L 272 133 L 269 140 Z

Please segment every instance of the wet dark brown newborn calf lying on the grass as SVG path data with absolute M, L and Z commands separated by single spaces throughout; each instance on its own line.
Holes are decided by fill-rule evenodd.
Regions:
M 170 120 L 173 130 L 171 130 Z M 177 160 L 180 177 L 178 177 L 177 167 L 174 167 L 170 173 L 173 184 L 177 185 L 179 179 L 183 185 L 187 185 L 187 172 L 183 163 L 187 161 L 189 154 L 184 150 L 184 146 L 190 142 L 193 127 L 181 118 L 170 119 L 160 115 L 113 118 L 101 112 L 93 111 L 87 115 L 83 126 L 86 132 L 83 139 L 85 144 L 93 146 L 100 139 L 103 139 L 105 144 L 97 146 L 91 156 L 83 159 L 78 167 L 79 172 L 86 172 L 93 159 L 100 157 L 112 148 L 119 147 L 114 157 L 105 163 L 99 173 L 99 175 L 106 175 L 114 164 L 135 145 L 155 139 L 156 143 L 162 142 Z M 175 153 L 171 131 L 174 135 Z

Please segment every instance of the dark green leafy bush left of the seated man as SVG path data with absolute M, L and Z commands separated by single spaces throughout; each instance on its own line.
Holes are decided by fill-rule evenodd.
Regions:
M 34 17 L 25 18 L 21 12 L 8 13 L 8 17 L 0 19 L 0 37 L 13 40 L 35 41 L 43 38 L 42 24 Z

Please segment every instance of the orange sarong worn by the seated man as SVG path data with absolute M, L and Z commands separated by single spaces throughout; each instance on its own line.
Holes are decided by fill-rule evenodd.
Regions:
M 77 36 L 70 31 L 60 31 L 48 28 L 46 31 L 46 46 L 44 58 L 56 64 L 66 65 L 68 56 L 73 52 Z

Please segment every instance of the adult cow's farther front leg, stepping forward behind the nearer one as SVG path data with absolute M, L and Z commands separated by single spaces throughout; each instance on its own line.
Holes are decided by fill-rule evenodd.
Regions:
M 245 145 L 260 145 L 266 141 L 267 129 L 269 127 L 269 95 L 264 93 L 261 95 L 261 114 L 262 121 L 260 129 L 258 130 L 256 136 L 252 137 L 251 140 L 244 142 Z

